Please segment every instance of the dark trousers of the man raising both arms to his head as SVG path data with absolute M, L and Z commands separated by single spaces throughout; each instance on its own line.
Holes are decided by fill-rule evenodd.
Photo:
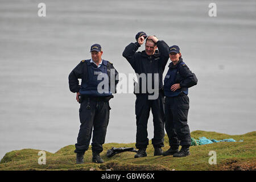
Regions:
M 136 144 L 137 148 L 147 148 L 147 122 L 150 115 L 150 110 L 153 115 L 154 123 L 154 138 L 152 144 L 154 147 L 164 146 L 164 97 L 159 92 L 159 97 L 156 100 L 148 100 L 147 94 L 137 94 L 135 102 L 135 114 L 137 124 Z

